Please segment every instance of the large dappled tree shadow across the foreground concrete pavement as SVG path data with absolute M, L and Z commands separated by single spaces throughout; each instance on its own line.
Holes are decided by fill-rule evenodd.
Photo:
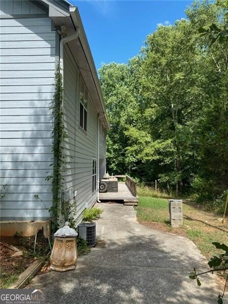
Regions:
M 87 304 L 215 303 L 214 278 L 203 276 L 200 288 L 188 279 L 195 265 L 205 269 L 206 262 L 188 254 L 187 248 L 170 253 L 158 237 L 132 236 L 95 248 L 79 258 L 75 271 L 36 277 L 31 286 L 46 288 L 50 304 L 57 298 L 63 304 L 72 299 Z

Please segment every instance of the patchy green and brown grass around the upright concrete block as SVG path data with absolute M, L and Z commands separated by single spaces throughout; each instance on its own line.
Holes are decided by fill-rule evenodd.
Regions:
M 183 203 L 182 228 L 171 227 L 167 199 L 139 197 L 138 207 L 135 208 L 139 221 L 153 223 L 154 227 L 160 223 L 159 229 L 187 236 L 206 258 L 219 252 L 212 242 L 228 244 L 227 225 L 222 225 L 217 215 L 201 210 L 197 204 Z

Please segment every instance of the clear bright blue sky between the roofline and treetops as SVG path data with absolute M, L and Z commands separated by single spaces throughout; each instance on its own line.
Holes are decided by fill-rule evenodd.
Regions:
M 127 63 L 158 24 L 186 17 L 192 1 L 68 0 L 79 8 L 97 69 L 112 61 Z

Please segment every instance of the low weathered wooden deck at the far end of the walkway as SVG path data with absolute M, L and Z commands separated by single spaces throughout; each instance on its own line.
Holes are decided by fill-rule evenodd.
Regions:
M 138 205 L 138 196 L 134 196 L 124 182 L 118 182 L 118 192 L 99 193 L 101 201 L 124 201 L 124 205 Z

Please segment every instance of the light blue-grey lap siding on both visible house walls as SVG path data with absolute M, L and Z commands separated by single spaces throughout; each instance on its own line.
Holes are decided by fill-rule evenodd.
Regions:
M 51 18 L 27 0 L 0 2 L 0 187 L 1 220 L 45 220 L 53 204 L 52 130 L 50 103 L 59 60 L 59 35 Z M 79 126 L 79 68 L 67 46 L 64 49 L 64 125 L 69 158 L 63 189 L 77 191 L 77 217 L 92 207 L 92 164 L 98 167 L 98 112 L 88 95 L 87 131 Z M 85 83 L 86 84 L 86 83 Z M 100 174 L 105 172 L 105 139 L 99 136 Z M 97 168 L 98 170 L 98 168 Z M 98 172 L 98 171 L 97 171 Z M 96 184 L 97 186 L 97 184 Z M 34 195 L 39 195 L 37 200 Z

